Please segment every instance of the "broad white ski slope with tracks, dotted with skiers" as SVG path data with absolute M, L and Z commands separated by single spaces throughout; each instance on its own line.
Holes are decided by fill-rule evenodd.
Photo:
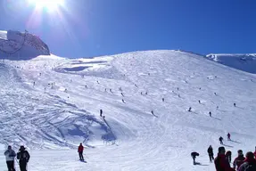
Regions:
M 255 88 L 252 74 L 178 51 L 5 60 L 0 170 L 6 145 L 25 144 L 29 171 L 213 171 L 207 148 L 217 154 L 220 135 L 234 155 L 254 150 Z M 87 163 L 78 161 L 79 142 Z M 201 165 L 192 164 L 192 151 Z

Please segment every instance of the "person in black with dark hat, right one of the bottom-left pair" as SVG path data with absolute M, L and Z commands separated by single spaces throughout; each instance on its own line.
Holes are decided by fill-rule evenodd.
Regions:
M 19 164 L 21 171 L 27 171 L 30 155 L 23 145 L 21 145 L 20 151 L 17 153 L 17 159 L 20 159 Z

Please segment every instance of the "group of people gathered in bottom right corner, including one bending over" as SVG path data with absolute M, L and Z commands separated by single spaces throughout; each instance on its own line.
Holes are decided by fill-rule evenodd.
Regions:
M 221 146 L 218 149 L 218 155 L 214 159 L 213 149 L 211 145 L 209 146 L 208 155 L 210 158 L 210 162 L 214 161 L 216 171 L 256 171 L 256 147 L 254 153 L 252 151 L 248 151 L 244 157 L 244 153 L 242 150 L 237 151 L 237 157 L 233 161 L 233 167 L 230 167 L 231 163 L 231 151 L 226 151 L 225 147 Z M 192 152 L 191 157 L 193 159 L 194 165 L 195 158 L 199 156 L 198 152 Z

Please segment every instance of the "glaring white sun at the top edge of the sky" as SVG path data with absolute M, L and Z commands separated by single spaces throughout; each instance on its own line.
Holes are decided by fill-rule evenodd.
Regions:
M 29 4 L 35 4 L 38 9 L 47 9 L 48 11 L 58 10 L 64 4 L 64 0 L 28 0 Z

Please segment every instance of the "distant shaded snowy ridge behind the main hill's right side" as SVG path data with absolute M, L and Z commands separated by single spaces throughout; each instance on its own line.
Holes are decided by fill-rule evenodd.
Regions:
M 206 57 L 228 67 L 256 74 L 256 54 L 208 54 Z

